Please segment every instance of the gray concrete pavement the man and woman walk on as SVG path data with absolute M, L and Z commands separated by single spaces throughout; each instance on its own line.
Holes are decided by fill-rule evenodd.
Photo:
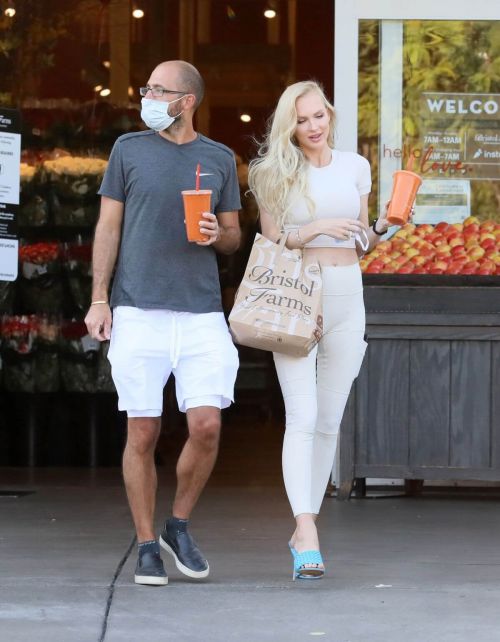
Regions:
M 35 491 L 0 498 L 0 641 L 500 641 L 499 495 L 326 499 L 327 575 L 292 582 L 280 439 L 225 436 L 192 520 L 210 578 L 164 554 L 166 587 L 133 584 L 120 471 L 0 469 L 0 489 Z M 158 528 L 172 470 L 160 468 Z

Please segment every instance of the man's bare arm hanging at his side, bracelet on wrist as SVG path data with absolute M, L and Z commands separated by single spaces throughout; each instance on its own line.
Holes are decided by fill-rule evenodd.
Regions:
M 101 211 L 95 229 L 92 251 L 92 303 L 85 323 L 89 334 L 99 341 L 111 336 L 111 309 L 108 290 L 118 256 L 123 221 L 123 203 L 101 197 Z

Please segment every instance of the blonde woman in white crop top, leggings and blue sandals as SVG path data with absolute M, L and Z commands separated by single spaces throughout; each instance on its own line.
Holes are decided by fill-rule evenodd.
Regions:
M 262 233 L 316 259 L 323 276 L 323 334 L 307 357 L 274 354 L 285 402 L 283 477 L 296 520 L 289 542 L 294 579 L 318 579 L 325 567 L 316 518 L 334 464 L 339 426 L 366 349 L 358 252 L 387 230 L 368 226 L 368 161 L 334 149 L 335 112 L 312 81 L 281 95 L 249 186 Z M 358 249 L 357 249 L 358 246 Z

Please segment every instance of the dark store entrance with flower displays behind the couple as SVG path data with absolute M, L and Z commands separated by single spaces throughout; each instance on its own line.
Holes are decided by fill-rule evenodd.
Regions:
M 287 84 L 315 78 L 332 94 L 331 0 L 139 4 L 82 0 L 68 10 L 54 0 L 42 11 L 25 2 L 0 17 L 10 52 L 0 55 L 0 106 L 19 111 L 22 146 L 19 277 L 0 281 L 3 465 L 120 463 L 125 421 L 107 344 L 88 341 L 82 320 L 96 193 L 114 141 L 144 127 L 138 88 L 153 67 L 185 59 L 199 68 L 206 95 L 197 130 L 236 156 L 243 235 L 235 254 L 218 257 L 226 314 L 258 229 L 246 182 L 255 139 Z M 281 430 L 271 356 L 240 348 L 240 362 L 236 404 Z M 172 383 L 165 404 L 166 434 L 182 431 Z

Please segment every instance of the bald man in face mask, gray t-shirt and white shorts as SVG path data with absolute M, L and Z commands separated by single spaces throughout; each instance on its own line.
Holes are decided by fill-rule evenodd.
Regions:
M 120 136 L 111 152 L 99 190 L 85 321 L 92 337 L 111 340 L 118 407 L 128 417 L 123 477 L 137 532 L 135 582 L 164 585 L 160 545 L 185 575 L 209 573 L 188 521 L 215 463 L 221 409 L 233 401 L 238 356 L 222 312 L 216 252 L 238 248 L 241 204 L 232 151 L 193 127 L 204 92 L 197 69 L 163 62 L 139 91 L 148 129 Z M 212 190 L 200 224 L 207 240 L 188 242 L 181 191 L 194 189 L 198 163 L 201 188 Z M 172 513 L 158 540 L 154 452 L 171 373 L 188 437 Z

